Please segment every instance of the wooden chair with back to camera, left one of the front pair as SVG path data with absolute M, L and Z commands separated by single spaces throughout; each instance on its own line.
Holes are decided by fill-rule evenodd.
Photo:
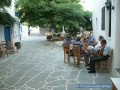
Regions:
M 68 63 L 70 64 L 70 55 L 71 55 L 70 46 L 64 45 L 63 49 L 64 49 L 64 63 L 66 63 L 66 59 L 68 59 Z

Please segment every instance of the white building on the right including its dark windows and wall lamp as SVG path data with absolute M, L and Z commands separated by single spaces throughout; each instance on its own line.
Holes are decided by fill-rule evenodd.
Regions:
M 95 39 L 103 35 L 113 48 L 112 73 L 119 76 L 116 68 L 120 68 L 120 0 L 94 0 L 92 20 Z

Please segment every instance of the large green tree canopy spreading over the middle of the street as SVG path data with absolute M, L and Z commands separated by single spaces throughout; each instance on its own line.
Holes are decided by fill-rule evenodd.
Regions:
M 85 24 L 79 0 L 18 0 L 16 7 L 21 22 L 30 26 L 78 28 Z

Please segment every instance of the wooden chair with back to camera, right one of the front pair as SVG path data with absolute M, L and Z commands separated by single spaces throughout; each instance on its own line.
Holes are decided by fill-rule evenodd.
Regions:
M 73 46 L 73 57 L 74 57 L 74 65 L 76 64 L 76 58 L 77 58 L 77 65 L 80 65 L 80 47 L 79 46 Z

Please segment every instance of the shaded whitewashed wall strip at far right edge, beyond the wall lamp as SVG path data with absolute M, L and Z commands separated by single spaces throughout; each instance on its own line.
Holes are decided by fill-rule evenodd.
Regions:
M 112 25 L 116 26 L 113 30 L 115 30 L 115 50 L 114 50 L 114 68 L 120 68 L 120 0 L 113 0 L 115 3 L 115 11 L 116 13 L 116 22 L 112 23 Z

